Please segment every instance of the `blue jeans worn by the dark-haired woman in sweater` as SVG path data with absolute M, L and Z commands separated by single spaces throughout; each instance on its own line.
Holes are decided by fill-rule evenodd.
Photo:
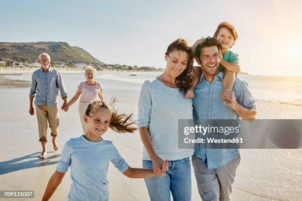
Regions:
M 170 201 L 170 191 L 174 201 L 191 200 L 190 158 L 169 161 L 163 177 L 145 178 L 151 201 Z M 152 161 L 143 160 L 144 169 L 152 169 Z

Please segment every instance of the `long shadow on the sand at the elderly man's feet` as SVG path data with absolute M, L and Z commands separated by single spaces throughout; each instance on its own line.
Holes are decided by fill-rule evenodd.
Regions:
M 53 153 L 53 152 L 47 152 L 47 153 Z M 61 154 L 56 154 L 53 156 L 48 156 L 45 159 L 40 159 L 38 158 L 39 154 L 41 154 L 41 152 L 36 152 L 20 158 L 0 162 L 0 175 L 18 171 L 21 169 L 28 169 L 33 167 L 49 166 L 49 165 L 57 164 L 59 163 L 59 161 L 51 161 L 51 160 L 55 158 L 59 158 L 61 156 Z M 22 160 L 28 160 L 28 159 L 32 159 L 32 160 L 20 162 Z

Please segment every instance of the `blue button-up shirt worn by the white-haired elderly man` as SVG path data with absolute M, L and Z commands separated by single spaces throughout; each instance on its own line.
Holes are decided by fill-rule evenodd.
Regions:
M 59 89 L 62 99 L 67 97 L 59 70 L 49 67 L 47 72 L 44 72 L 42 68 L 33 72 L 29 97 L 36 96 L 35 105 L 47 104 L 49 107 L 57 105 Z

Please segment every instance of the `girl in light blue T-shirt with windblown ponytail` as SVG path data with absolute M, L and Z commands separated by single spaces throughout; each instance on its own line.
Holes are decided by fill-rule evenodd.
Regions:
M 68 200 L 72 201 L 109 200 L 107 172 L 110 161 L 127 177 L 155 176 L 151 169 L 129 167 L 112 141 L 102 138 L 109 127 L 118 133 L 133 133 L 136 128 L 132 127 L 135 123 L 130 121 L 131 117 L 132 114 L 117 114 L 116 110 L 111 109 L 104 101 L 90 103 L 84 116 L 87 132 L 65 143 L 59 164 L 49 179 L 42 201 L 50 199 L 70 166 L 73 182 Z M 162 165 L 162 173 L 159 176 L 163 176 L 166 169 L 167 161 Z

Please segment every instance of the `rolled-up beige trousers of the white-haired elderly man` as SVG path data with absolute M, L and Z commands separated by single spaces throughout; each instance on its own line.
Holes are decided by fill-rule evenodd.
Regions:
M 59 110 L 58 106 L 48 107 L 47 104 L 36 105 L 38 119 L 39 141 L 47 142 L 47 120 L 51 136 L 58 136 Z

